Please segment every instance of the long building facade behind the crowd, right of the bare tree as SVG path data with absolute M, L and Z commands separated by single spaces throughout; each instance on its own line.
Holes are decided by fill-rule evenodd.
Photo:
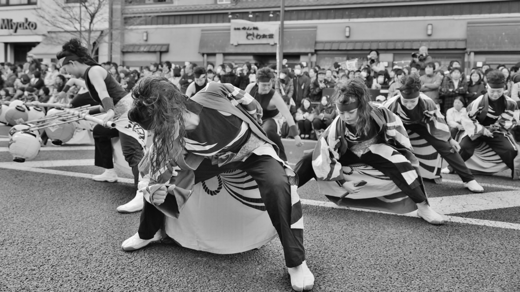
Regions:
M 130 66 L 276 62 L 276 45 L 231 44 L 235 19 L 278 24 L 279 0 L 116 0 L 113 27 L 122 37 L 112 56 Z M 517 0 L 286 0 L 284 58 L 329 67 L 380 52 L 389 67 L 420 46 L 441 65 L 520 61 Z

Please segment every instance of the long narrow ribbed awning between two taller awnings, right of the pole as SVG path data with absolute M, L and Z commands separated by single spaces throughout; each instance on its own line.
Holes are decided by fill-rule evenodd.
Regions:
M 426 41 L 358 41 L 358 42 L 316 42 L 316 50 L 419 50 L 465 49 L 465 39 L 437 39 Z

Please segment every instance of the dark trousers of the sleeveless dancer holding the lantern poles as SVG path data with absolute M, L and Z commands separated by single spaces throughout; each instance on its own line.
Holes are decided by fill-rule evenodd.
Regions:
M 123 134 L 116 129 L 106 128 L 101 125 L 94 127 L 93 136 L 95 144 L 94 165 L 108 169 L 114 168 L 111 139 L 119 137 L 123 155 L 128 165 L 132 167 L 134 184 L 137 186 L 139 182 L 139 169 L 137 166 L 144 156 L 141 144 L 133 137 Z

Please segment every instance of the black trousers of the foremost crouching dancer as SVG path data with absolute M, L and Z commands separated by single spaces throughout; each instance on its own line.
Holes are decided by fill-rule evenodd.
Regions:
M 305 260 L 303 229 L 291 229 L 291 188 L 280 162 L 267 155 L 253 154 L 244 162 L 218 167 L 205 159 L 194 171 L 195 183 L 231 169 L 243 170 L 256 181 L 269 218 L 280 237 L 285 264 L 288 268 L 300 266 Z M 139 237 L 151 239 L 161 229 L 163 222 L 164 214 L 145 200 L 139 223 Z

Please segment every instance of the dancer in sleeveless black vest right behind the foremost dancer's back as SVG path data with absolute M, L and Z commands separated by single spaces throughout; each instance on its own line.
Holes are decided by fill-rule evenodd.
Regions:
M 301 147 L 303 142 L 300 136 L 298 136 L 298 127 L 296 127 L 294 118 L 283 101 L 283 98 L 278 92 L 272 89 L 274 79 L 275 73 L 272 69 L 268 67 L 259 69 L 256 71 L 256 83 L 248 85 L 248 87 L 245 88 L 245 92 L 248 92 L 262 106 L 262 129 L 266 132 L 267 138 L 275 142 L 280 149 L 280 158 L 282 158 L 283 161 L 287 161 L 287 155 L 285 155 L 285 149 L 283 148 L 279 130 L 283 123 L 282 117 L 285 118 L 289 125 L 289 136 L 294 137 L 295 145 Z

